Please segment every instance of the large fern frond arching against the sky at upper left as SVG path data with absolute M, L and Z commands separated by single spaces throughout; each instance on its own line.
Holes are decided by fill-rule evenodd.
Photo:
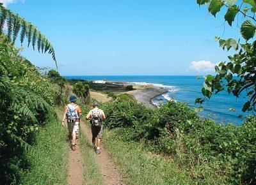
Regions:
M 40 52 L 47 52 L 52 55 L 52 59 L 55 61 L 56 68 L 58 69 L 56 56 L 51 43 L 45 38 L 45 36 L 36 29 L 30 22 L 27 22 L 23 18 L 19 17 L 16 13 L 13 13 L 8 8 L 5 8 L 0 3 L 0 34 L 3 34 L 4 23 L 7 23 L 7 36 L 9 40 L 15 43 L 20 32 L 20 43 L 24 42 L 25 38 L 28 39 L 29 44 L 32 43 L 33 50 L 37 45 L 37 49 Z M 20 31 L 21 28 L 21 31 Z

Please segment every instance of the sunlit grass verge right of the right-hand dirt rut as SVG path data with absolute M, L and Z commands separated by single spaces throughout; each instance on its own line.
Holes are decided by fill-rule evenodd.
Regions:
M 121 168 L 125 184 L 193 184 L 175 160 L 144 151 L 138 142 L 124 142 L 115 130 L 104 131 L 104 146 Z

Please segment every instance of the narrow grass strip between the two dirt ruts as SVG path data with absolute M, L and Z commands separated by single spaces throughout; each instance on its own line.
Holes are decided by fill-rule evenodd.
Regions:
M 102 175 L 95 159 L 95 154 L 83 131 L 81 131 L 80 148 L 83 156 L 83 184 L 103 184 Z

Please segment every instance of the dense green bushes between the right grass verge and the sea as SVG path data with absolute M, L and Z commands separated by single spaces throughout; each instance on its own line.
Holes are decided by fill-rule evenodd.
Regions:
M 256 183 L 253 117 L 242 126 L 222 125 L 199 117 L 184 103 L 169 101 L 150 110 L 120 98 L 105 104 L 103 110 L 106 127 L 120 128 L 119 135 L 125 140 L 144 141 L 147 149 L 179 159 L 180 165 L 190 170 L 191 178 L 204 181 L 208 173 L 220 176 L 225 183 Z

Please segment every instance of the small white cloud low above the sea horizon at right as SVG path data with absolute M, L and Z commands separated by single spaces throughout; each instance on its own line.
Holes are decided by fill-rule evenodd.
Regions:
M 214 72 L 214 67 L 216 65 L 218 65 L 218 63 L 211 63 L 211 61 L 193 61 L 189 70 L 193 70 L 198 73 Z

